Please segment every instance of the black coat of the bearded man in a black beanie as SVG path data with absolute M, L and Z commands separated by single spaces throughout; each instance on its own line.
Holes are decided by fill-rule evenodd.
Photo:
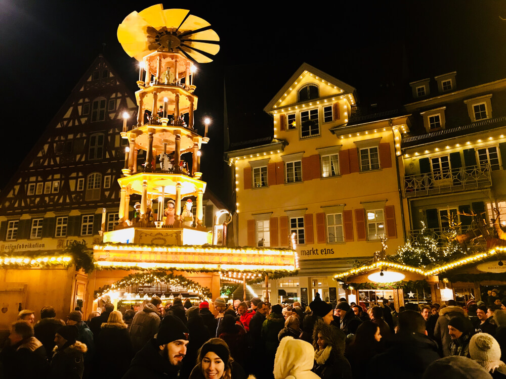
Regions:
M 179 367 L 173 366 L 159 351 L 155 339 L 149 340 L 132 359 L 122 379 L 177 379 Z

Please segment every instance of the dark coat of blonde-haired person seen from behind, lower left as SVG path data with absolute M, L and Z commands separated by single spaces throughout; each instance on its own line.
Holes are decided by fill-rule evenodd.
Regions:
M 126 325 L 105 322 L 96 342 L 97 371 L 108 379 L 120 379 L 134 357 L 134 347 Z

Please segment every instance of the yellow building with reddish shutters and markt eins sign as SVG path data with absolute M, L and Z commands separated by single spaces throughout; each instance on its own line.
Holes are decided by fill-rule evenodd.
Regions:
M 303 64 L 264 108 L 269 144 L 226 153 L 235 170 L 238 244 L 290 247 L 299 276 L 271 280 L 271 301 L 344 295 L 332 274 L 404 243 L 396 169 L 406 117 L 355 115 L 355 88 Z M 265 295 L 265 291 L 264 291 Z

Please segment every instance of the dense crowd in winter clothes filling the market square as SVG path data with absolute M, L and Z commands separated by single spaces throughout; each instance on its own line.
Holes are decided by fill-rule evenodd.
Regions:
M 309 306 L 259 298 L 209 304 L 153 296 L 106 303 L 85 320 L 44 307 L 18 320 L 0 351 L 0 379 L 506 378 L 502 304 L 454 301 L 369 308 L 318 296 Z

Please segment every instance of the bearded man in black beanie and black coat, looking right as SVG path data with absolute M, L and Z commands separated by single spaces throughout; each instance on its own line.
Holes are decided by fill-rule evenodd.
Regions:
M 189 339 L 188 328 L 179 317 L 165 316 L 158 333 L 135 355 L 123 379 L 177 378 Z

